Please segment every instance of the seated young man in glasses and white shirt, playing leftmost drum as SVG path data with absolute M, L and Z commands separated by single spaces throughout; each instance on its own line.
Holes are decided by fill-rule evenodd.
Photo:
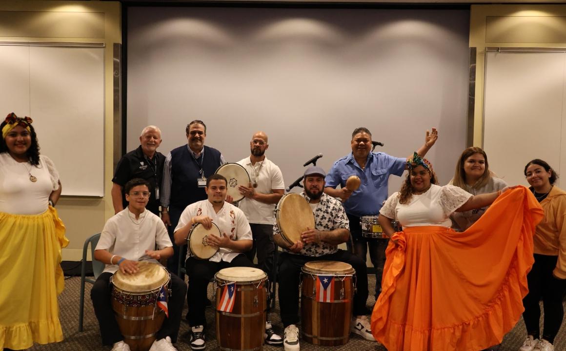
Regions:
M 139 261 L 159 263 L 159 259 L 173 255 L 173 244 L 165 225 L 158 216 L 145 209 L 151 192 L 148 181 L 132 179 L 126 183 L 124 190 L 128 207 L 106 222 L 96 245 L 95 259 L 106 263 L 106 268 L 91 290 L 102 344 L 113 345 L 112 351 L 130 351 L 130 346 L 123 341 L 112 309 L 110 277 L 118 270 L 126 275 L 136 274 Z M 156 333 L 156 340 L 149 351 L 177 350 L 172 343 L 177 341 L 187 285 L 171 274 L 170 289 L 169 317 Z

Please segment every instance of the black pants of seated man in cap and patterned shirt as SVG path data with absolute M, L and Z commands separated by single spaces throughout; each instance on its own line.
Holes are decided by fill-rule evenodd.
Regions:
M 285 327 L 299 322 L 299 279 L 301 268 L 311 261 L 340 261 L 349 263 L 355 270 L 356 290 L 354 292 L 354 315 L 365 315 L 367 301 L 367 268 L 366 263 L 348 251 L 338 252 L 318 257 L 296 255 L 288 252 L 281 253 L 279 275 L 279 307 L 281 322 Z M 331 321 L 329 321 L 330 323 Z

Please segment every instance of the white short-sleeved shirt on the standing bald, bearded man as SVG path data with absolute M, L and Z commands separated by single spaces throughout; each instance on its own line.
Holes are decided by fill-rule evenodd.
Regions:
M 254 165 L 251 164 L 250 158 L 246 157 L 238 161 L 238 164 L 246 168 L 252 184 L 258 183 L 258 187 L 255 188 L 256 192 L 272 194 L 272 189 L 285 189 L 281 170 L 267 157 Z M 275 224 L 275 214 L 273 213 L 275 204 L 273 203 L 263 203 L 245 197 L 238 203 L 238 207 L 246 214 L 250 223 Z

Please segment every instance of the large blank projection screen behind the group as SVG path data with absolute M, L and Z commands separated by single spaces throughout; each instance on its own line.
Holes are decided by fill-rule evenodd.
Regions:
M 250 154 L 254 132 L 289 185 L 318 153 L 328 170 L 367 127 L 384 151 L 406 157 L 437 127 L 427 154 L 446 184 L 466 140 L 468 10 L 127 8 L 127 151 L 145 125 L 158 149 L 205 144 L 229 162 Z M 400 188 L 391 177 L 389 192 Z

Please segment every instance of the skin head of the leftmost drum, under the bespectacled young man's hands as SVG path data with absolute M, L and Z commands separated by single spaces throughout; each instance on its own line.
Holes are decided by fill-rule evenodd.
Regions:
M 112 284 L 127 292 L 148 292 L 160 288 L 169 280 L 167 270 L 157 263 L 139 261 L 139 271 L 136 274 L 123 274 L 116 271 Z

